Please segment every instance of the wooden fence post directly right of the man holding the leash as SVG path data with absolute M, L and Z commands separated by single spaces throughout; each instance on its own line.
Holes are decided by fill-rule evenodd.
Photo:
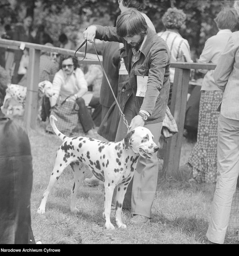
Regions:
M 163 171 L 167 177 L 173 176 L 179 169 L 189 79 L 190 69 L 175 69 L 170 111 L 174 116 L 179 132 L 174 134 L 166 145 Z

